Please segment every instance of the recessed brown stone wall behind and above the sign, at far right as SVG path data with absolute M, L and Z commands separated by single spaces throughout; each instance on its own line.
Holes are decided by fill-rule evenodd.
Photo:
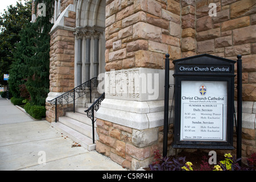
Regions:
M 217 16 L 209 16 L 209 3 Z M 196 1 L 196 53 L 237 60 L 242 55 L 243 101 L 256 101 L 256 2 Z M 235 79 L 236 80 L 236 79 Z

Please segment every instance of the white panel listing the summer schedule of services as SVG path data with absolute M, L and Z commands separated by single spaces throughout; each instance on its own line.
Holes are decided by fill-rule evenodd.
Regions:
M 181 81 L 180 140 L 226 141 L 226 81 Z

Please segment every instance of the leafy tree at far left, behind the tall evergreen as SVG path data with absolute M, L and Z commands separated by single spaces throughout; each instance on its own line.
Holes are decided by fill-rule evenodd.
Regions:
M 0 77 L 10 73 L 10 65 L 14 61 L 16 43 L 20 42 L 19 32 L 31 21 L 31 0 L 20 0 L 16 6 L 10 5 L 0 16 Z M 7 81 L 0 79 L 0 84 L 7 85 Z

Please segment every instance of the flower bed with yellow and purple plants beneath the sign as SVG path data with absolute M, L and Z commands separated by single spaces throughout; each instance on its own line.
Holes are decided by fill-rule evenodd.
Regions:
M 181 152 L 177 157 L 163 158 L 159 151 L 154 151 L 155 161 L 146 170 L 151 171 L 255 171 L 256 154 L 247 159 L 247 164 L 240 166 L 235 156 L 225 154 L 217 156 L 217 164 L 209 164 L 207 152 Z

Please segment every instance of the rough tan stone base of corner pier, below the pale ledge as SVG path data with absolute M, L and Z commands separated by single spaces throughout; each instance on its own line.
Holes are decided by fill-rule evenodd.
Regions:
M 163 126 L 136 130 L 97 119 L 97 133 L 96 151 L 128 169 L 148 167 L 154 160 L 154 151 L 160 150 L 160 154 L 163 151 Z M 171 142 L 169 135 L 168 143 Z

